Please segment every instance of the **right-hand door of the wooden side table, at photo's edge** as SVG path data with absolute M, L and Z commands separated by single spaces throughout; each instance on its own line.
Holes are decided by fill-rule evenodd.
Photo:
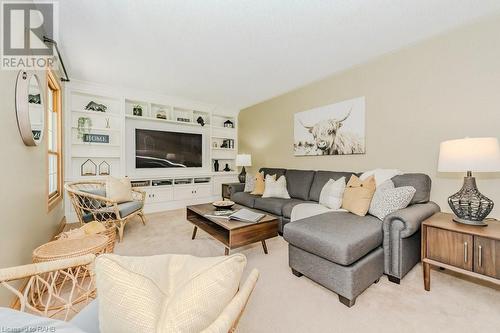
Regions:
M 474 272 L 500 279 L 500 241 L 475 236 Z

